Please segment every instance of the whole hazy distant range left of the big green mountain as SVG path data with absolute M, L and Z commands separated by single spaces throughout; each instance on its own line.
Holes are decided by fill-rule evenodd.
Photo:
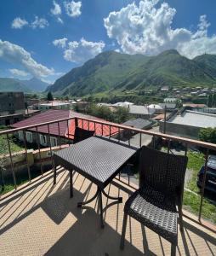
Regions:
M 26 93 L 44 91 L 48 87 L 40 79 L 29 80 L 0 78 L 0 91 L 23 91 Z

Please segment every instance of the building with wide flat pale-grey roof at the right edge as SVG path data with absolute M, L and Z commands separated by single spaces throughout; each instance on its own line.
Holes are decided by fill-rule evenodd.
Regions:
M 186 110 L 181 114 L 175 114 L 166 122 L 166 133 L 170 135 L 199 138 L 202 128 L 216 127 L 216 114 L 200 113 Z M 160 122 L 160 131 L 164 131 L 164 122 Z

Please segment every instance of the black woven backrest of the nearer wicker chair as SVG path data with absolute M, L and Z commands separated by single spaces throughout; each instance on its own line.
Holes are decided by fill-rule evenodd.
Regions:
M 182 194 L 188 158 L 142 147 L 139 158 L 140 186 L 150 185 L 164 194 Z

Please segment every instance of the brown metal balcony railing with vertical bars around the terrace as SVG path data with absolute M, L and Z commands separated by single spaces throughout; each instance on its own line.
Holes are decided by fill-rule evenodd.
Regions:
M 65 133 L 65 136 L 62 136 L 60 134 L 60 125 L 64 122 L 64 124 L 67 125 L 67 132 Z M 207 160 L 208 160 L 208 156 L 209 156 L 209 152 L 214 152 L 216 151 L 216 145 L 213 143 L 204 143 L 201 141 L 196 141 L 196 140 L 192 140 L 189 138 L 185 138 L 185 137 L 176 137 L 176 136 L 171 136 L 168 134 L 163 134 L 160 132 L 156 132 L 156 131 L 146 131 L 146 130 L 140 130 L 140 129 L 136 129 L 136 128 L 132 128 L 129 126 L 125 126 L 125 125 L 118 125 L 115 123 L 111 123 L 111 122 L 107 122 L 107 121 L 103 121 L 100 119 L 87 119 L 87 118 L 82 118 L 82 117 L 71 117 L 71 118 L 67 118 L 67 119 L 58 119 L 58 120 L 54 120 L 52 122 L 45 122 L 42 124 L 37 124 L 37 125 L 28 125 L 25 127 L 20 127 L 20 128 L 15 128 L 15 129 L 10 129 L 7 131 L 0 131 L 0 142 L 1 142 L 1 138 L 3 138 L 5 141 L 7 141 L 7 147 L 8 147 L 8 151 L 5 152 L 5 155 L 1 156 L 0 159 L 4 158 L 8 158 L 8 162 L 5 164 L 5 166 L 7 167 L 6 171 L 3 172 L 3 170 L 1 170 L 1 176 L 0 179 L 2 181 L 2 187 L 5 184 L 5 176 L 6 174 L 9 174 L 9 169 L 12 173 L 11 177 L 13 177 L 13 186 L 14 186 L 14 191 L 17 189 L 18 185 L 20 183 L 23 183 L 25 181 L 23 181 L 21 179 L 21 181 L 18 181 L 18 176 L 19 176 L 19 172 L 16 171 L 16 164 L 14 161 L 15 158 L 15 150 L 12 147 L 12 142 L 11 142 L 11 137 L 14 137 L 14 135 L 17 135 L 18 131 L 22 131 L 23 132 L 23 143 L 22 143 L 22 147 L 23 147 L 23 154 L 25 155 L 24 160 L 22 161 L 23 164 L 26 166 L 26 177 L 27 177 L 27 181 L 29 183 L 31 183 L 31 178 L 35 177 L 35 171 L 31 170 L 30 164 L 29 164 L 29 159 L 28 159 L 28 149 L 27 149 L 27 141 L 26 141 L 26 131 L 32 131 L 35 133 L 36 135 L 36 146 L 37 146 L 37 164 L 39 164 L 39 169 L 40 169 L 40 176 L 44 177 L 46 175 L 46 173 L 44 172 L 44 158 L 43 158 L 43 148 L 40 144 L 40 138 L 39 138 L 39 134 L 40 132 L 40 127 L 47 127 L 47 134 L 48 134 L 48 148 L 47 150 L 49 151 L 49 153 L 47 154 L 47 157 L 45 160 L 50 160 L 52 161 L 52 154 L 53 151 L 56 149 L 59 149 L 61 147 L 67 147 L 68 145 L 70 145 L 72 143 L 72 139 L 74 134 L 71 133 L 71 122 L 74 122 L 74 126 L 79 126 L 79 127 L 87 127 L 88 130 L 94 130 L 96 135 L 99 136 L 107 136 L 110 139 L 113 139 L 113 137 L 115 137 L 114 139 L 117 140 L 118 142 L 122 141 L 122 132 L 123 131 L 128 131 L 131 132 L 131 134 L 136 134 L 137 137 L 137 147 L 142 147 L 143 142 L 142 142 L 142 137 L 144 135 L 149 135 L 151 136 L 151 147 L 156 148 L 156 145 L 158 143 L 158 139 L 160 139 L 163 143 L 165 143 L 166 145 L 166 150 L 168 151 L 168 153 L 173 154 L 173 150 L 171 147 L 171 144 L 173 142 L 176 143 L 182 143 L 183 144 L 183 148 L 184 148 L 184 154 L 187 155 L 188 154 L 188 149 L 189 148 L 199 148 L 202 153 L 205 156 L 205 164 L 204 164 L 204 174 L 203 174 L 203 178 L 202 178 L 202 188 L 201 188 L 201 193 L 200 193 L 200 201 L 199 201 L 199 210 L 198 210 L 198 220 L 201 221 L 202 218 L 202 210 L 203 210 L 203 201 L 204 199 L 204 193 L 205 193 L 205 185 L 206 185 L 206 178 L 207 178 Z M 56 125 L 58 127 L 58 135 L 57 135 L 57 140 L 58 140 L 58 146 L 53 147 L 52 143 L 51 143 L 51 137 L 52 134 L 50 133 L 50 126 L 51 125 Z M 107 127 L 108 127 L 108 134 L 107 134 Z M 99 129 L 99 131 L 97 131 L 97 129 Z M 113 129 L 115 130 L 115 132 L 113 132 Z M 139 137 L 139 138 L 138 138 Z M 131 137 L 128 137 L 128 140 L 126 140 L 125 143 L 128 143 L 129 145 L 132 143 L 131 141 Z M 1 147 L 1 145 L 0 145 Z M 1 152 L 1 151 L 0 151 Z M 37 165 L 38 166 L 38 165 Z M 1 169 L 3 169 L 3 164 L 1 164 Z M 122 177 L 122 175 L 119 175 L 118 177 L 116 177 L 118 180 L 120 180 L 122 183 L 127 183 L 129 186 L 134 187 L 133 183 L 131 182 L 131 178 L 130 175 L 128 175 L 128 179 L 125 179 L 125 177 Z M 138 177 L 139 179 L 139 174 Z M 197 196 L 199 196 L 197 194 Z

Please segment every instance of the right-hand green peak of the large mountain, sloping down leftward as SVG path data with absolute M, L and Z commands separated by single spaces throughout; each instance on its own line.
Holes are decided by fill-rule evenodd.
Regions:
M 216 68 L 167 50 L 129 75 L 115 89 L 140 90 L 146 86 L 196 86 L 216 84 Z

